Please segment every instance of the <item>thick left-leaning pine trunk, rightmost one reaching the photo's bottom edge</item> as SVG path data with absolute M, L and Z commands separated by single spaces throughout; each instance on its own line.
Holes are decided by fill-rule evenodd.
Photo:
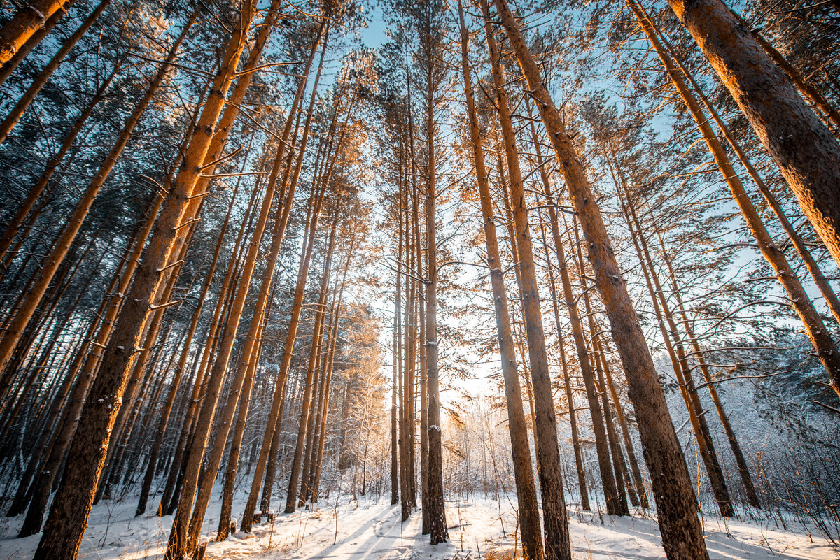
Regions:
M 670 560 L 706 560 L 706 542 L 685 459 L 674 425 L 670 422 L 668 403 L 656 376 L 647 341 L 638 323 L 633 302 L 627 293 L 621 268 L 612 251 L 601 210 L 596 204 L 583 165 L 571 143 L 569 134 L 542 74 L 525 44 L 522 32 L 506 0 L 494 0 L 501 23 L 507 30 L 522 74 L 537 101 L 540 115 L 557 154 L 560 171 L 569 187 L 575 210 L 589 248 L 589 257 L 596 275 L 596 285 L 606 308 L 622 356 L 630 398 L 636 411 L 642 436 L 645 459 L 654 483 L 654 498 L 659 511 L 659 527 L 666 555 Z

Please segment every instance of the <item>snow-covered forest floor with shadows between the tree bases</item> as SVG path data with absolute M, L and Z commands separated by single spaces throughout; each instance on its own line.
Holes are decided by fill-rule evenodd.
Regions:
M 218 493 L 215 493 L 218 495 Z M 244 499 L 244 496 L 243 496 Z M 139 560 L 162 557 L 171 516 L 134 517 L 136 500 L 95 506 L 80 558 Z M 241 511 L 243 501 L 234 504 Z M 420 512 L 406 523 L 400 507 L 389 500 L 346 497 L 324 502 L 314 511 L 278 516 L 274 524 L 255 526 L 253 533 L 236 533 L 224 542 L 211 542 L 207 560 L 468 560 L 510 558 L 517 524 L 515 499 L 501 502 L 479 497 L 446 503 L 449 542 L 432 547 L 420 534 Z M 216 529 L 218 503 L 211 504 L 205 534 Z M 712 560 L 828 560 L 836 558 L 831 543 L 804 526 L 791 531 L 774 525 L 722 520 L 706 516 L 706 544 Z M 32 557 L 40 535 L 14 538 L 23 516 L 0 518 L 0 560 Z M 614 517 L 570 508 L 571 542 L 580 560 L 647 560 L 664 558 L 656 521 L 645 516 Z M 504 550 L 507 549 L 507 550 Z M 507 554 L 505 553 L 507 552 Z

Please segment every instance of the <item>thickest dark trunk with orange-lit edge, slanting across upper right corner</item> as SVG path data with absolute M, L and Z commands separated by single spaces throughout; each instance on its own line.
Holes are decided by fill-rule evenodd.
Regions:
M 721 0 L 669 0 L 840 263 L 840 144 Z M 821 355 L 821 359 L 829 356 Z M 832 370 L 840 395 L 840 371 Z

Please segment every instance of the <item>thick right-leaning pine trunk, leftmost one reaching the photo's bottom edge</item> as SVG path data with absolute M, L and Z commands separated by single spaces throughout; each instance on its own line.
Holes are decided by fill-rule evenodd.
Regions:
M 108 348 L 102 355 L 97 378 L 93 381 L 71 443 L 64 479 L 53 500 L 44 536 L 35 552 L 36 560 L 59 556 L 75 560 L 78 555 L 92 499 L 102 473 L 110 432 L 136 358 L 135 347 L 139 343 L 139 334 L 150 314 L 150 301 L 160 283 L 163 269 L 170 266 L 167 262 L 176 244 L 177 228 L 182 226 L 181 220 L 191 206 L 190 197 L 198 175 L 201 174 L 204 156 L 213 136 L 213 125 L 218 120 L 225 94 L 235 74 L 254 13 L 254 3 L 250 0 L 242 3 L 239 20 L 235 23 L 223 55 L 222 66 L 213 79 L 211 95 L 197 122 L 181 170 L 166 196 L 160 218 L 155 223 L 150 246 L 144 251 L 137 277 L 125 298 L 123 312 L 113 329 Z

